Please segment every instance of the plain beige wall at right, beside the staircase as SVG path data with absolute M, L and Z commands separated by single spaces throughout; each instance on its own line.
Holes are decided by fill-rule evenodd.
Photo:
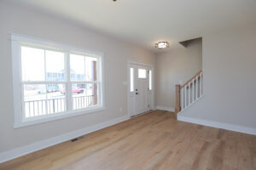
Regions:
M 181 113 L 256 128 L 256 25 L 203 37 L 205 97 Z

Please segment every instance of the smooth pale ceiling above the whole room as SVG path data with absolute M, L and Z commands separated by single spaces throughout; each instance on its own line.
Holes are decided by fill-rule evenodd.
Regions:
M 14 0 L 136 43 L 153 52 L 177 42 L 256 22 L 255 0 Z

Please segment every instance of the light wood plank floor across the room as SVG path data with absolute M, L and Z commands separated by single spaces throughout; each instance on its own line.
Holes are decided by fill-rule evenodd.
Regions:
M 76 142 L 39 150 L 0 169 L 256 169 L 256 136 L 177 122 L 153 111 Z

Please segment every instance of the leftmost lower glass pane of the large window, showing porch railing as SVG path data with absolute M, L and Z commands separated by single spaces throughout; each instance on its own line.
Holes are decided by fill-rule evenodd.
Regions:
M 24 85 L 25 117 L 46 114 L 46 89 L 44 84 Z

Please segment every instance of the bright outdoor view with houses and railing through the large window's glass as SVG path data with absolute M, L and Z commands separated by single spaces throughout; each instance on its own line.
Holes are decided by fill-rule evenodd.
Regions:
M 100 58 L 24 45 L 20 48 L 25 118 L 101 105 Z

